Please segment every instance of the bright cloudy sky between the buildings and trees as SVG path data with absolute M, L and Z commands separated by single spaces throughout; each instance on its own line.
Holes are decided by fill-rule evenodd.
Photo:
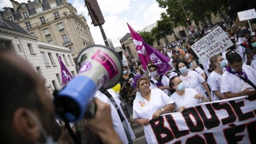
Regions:
M 27 0 L 16 1 L 27 3 Z M 78 14 L 83 14 L 86 17 L 94 43 L 105 45 L 99 26 L 94 27 L 91 24 L 84 1 L 68 0 L 68 2 L 76 8 Z M 112 40 L 114 47 L 121 46 L 120 38 L 129 32 L 126 23 L 129 23 L 136 31 L 142 30 L 146 26 L 156 23 L 160 19 L 161 12 L 165 11 L 158 7 L 155 0 L 97 0 L 97 2 L 105 18 L 103 29 L 107 38 Z M 9 0 L 0 0 L 0 6 L 1 8 L 12 7 Z

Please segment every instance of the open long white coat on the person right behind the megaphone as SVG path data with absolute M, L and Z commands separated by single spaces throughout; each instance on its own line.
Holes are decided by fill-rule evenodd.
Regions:
M 95 97 L 110 105 L 114 130 L 122 139 L 123 143 L 132 143 L 132 139 L 135 139 L 135 135 L 120 106 L 121 101 L 118 98 L 118 94 L 112 89 L 108 89 L 107 92 L 105 91 L 105 94 L 102 92 L 97 91 Z M 112 96 L 112 98 L 109 94 Z

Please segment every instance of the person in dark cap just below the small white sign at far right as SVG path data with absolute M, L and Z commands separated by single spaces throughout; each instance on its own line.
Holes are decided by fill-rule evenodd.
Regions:
M 250 36 L 250 31 L 248 29 L 242 29 L 238 34 L 238 51 L 240 56 L 242 57 L 243 61 L 245 61 L 245 50 L 248 48 L 247 39 Z

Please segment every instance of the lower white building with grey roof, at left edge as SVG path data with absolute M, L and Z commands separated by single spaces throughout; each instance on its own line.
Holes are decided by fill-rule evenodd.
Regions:
M 0 49 L 8 49 L 26 59 L 34 70 L 45 78 L 45 86 L 51 93 L 63 87 L 58 55 L 61 55 L 63 63 L 71 74 L 76 75 L 69 48 L 39 41 L 15 22 L 2 17 L 0 17 Z

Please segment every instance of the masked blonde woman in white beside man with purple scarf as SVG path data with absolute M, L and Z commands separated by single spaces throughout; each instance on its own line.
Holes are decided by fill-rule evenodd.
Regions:
M 210 58 L 211 74 L 207 79 L 207 84 L 211 89 L 211 101 L 225 99 L 221 93 L 221 75 L 225 72 L 226 62 L 221 55 L 213 55 Z

